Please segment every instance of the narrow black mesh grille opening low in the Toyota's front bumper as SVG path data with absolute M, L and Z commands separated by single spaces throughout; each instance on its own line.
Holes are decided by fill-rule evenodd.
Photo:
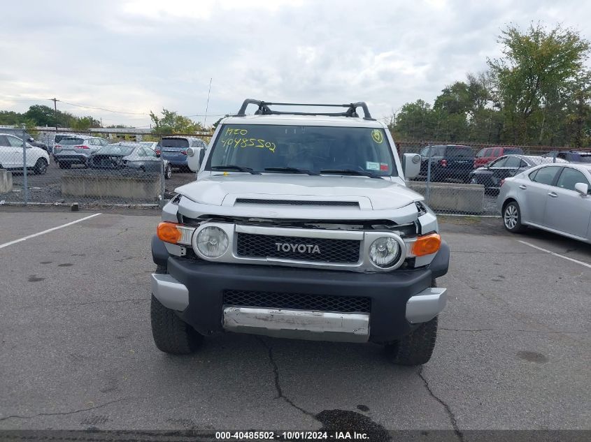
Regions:
M 261 307 L 266 309 L 293 309 L 334 311 L 338 313 L 369 313 L 369 297 L 307 295 L 303 293 L 259 292 L 225 290 L 224 305 L 234 307 Z

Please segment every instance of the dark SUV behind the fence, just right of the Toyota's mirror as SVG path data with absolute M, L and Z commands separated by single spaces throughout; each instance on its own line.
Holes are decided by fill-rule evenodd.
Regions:
M 445 181 L 446 179 L 460 179 L 470 181 L 470 172 L 474 164 L 474 152 L 469 146 L 435 145 L 427 146 L 420 152 L 420 174 L 422 179 L 430 181 Z M 429 171 L 429 161 L 431 170 Z

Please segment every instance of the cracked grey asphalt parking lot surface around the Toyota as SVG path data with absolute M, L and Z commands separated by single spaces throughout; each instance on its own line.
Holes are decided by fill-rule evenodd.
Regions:
M 591 428 L 583 243 L 443 219 L 450 296 L 422 368 L 238 334 L 171 357 L 150 331 L 156 212 L 0 210 L 0 429 Z

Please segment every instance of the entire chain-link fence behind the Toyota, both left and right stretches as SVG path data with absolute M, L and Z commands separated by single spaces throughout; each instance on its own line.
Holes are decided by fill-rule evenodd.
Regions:
M 194 181 L 187 149 L 205 147 L 210 137 L 40 131 L 34 140 L 24 129 L 0 130 L 0 205 L 158 207 Z M 574 155 L 564 148 L 434 142 L 397 142 L 397 148 L 400 155 L 420 154 L 420 174 L 407 185 L 435 212 L 480 216 L 497 214 L 506 177 Z

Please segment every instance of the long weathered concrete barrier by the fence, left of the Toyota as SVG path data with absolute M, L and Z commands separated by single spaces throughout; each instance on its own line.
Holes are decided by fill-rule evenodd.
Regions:
M 62 195 L 157 201 L 159 193 L 157 174 L 76 170 L 62 175 Z

